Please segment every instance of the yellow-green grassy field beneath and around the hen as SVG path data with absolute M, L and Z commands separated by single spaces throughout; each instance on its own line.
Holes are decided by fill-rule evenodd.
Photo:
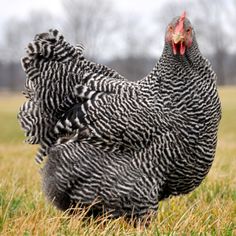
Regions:
M 216 159 L 191 194 L 163 201 L 148 228 L 122 218 L 69 217 L 41 192 L 36 147 L 23 143 L 16 113 L 24 98 L 0 94 L 0 235 L 236 235 L 236 87 L 220 89 Z

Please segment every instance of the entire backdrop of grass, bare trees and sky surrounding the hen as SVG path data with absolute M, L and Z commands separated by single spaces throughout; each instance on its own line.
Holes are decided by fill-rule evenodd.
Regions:
M 236 235 L 236 0 L 0 0 L 0 235 L 98 235 L 101 229 L 48 205 L 33 161 L 37 146 L 22 143 L 20 58 L 34 35 L 57 28 L 70 43 L 83 43 L 87 58 L 137 80 L 156 64 L 166 26 L 183 10 L 218 75 L 223 115 L 206 180 L 190 195 L 161 203 L 151 229 L 156 235 Z M 102 223 L 100 234 L 117 229 L 113 235 L 125 235 L 127 227 L 114 223 Z M 127 234 L 149 232 L 137 230 Z

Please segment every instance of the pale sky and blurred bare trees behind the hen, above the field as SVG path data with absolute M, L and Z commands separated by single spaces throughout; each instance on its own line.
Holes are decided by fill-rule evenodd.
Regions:
M 1 0 L 0 91 L 23 89 L 20 58 L 34 35 L 50 28 L 83 43 L 87 58 L 140 79 L 161 55 L 167 24 L 183 10 L 219 85 L 236 84 L 236 0 Z

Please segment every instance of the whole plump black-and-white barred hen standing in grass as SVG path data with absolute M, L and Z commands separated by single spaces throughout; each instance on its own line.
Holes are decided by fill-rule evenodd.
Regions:
M 191 27 L 185 15 L 170 25 Z M 187 33 L 168 41 L 172 28 L 158 63 L 138 82 L 86 60 L 83 47 L 57 30 L 29 44 L 28 101 L 18 119 L 28 142 L 40 144 L 37 161 L 48 156 L 43 189 L 58 208 L 97 201 L 93 212 L 141 217 L 208 173 L 221 116 L 216 75 L 193 29 L 190 43 Z

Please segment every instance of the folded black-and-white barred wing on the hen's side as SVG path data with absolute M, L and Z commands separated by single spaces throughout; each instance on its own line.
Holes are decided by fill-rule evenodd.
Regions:
M 103 81 L 105 87 L 106 83 Z M 59 143 L 85 140 L 106 150 L 138 150 L 164 131 L 164 118 L 141 93 L 139 84 L 126 84 L 119 93 L 98 92 L 91 86 L 76 89 L 85 102 L 75 105 L 57 122 Z

